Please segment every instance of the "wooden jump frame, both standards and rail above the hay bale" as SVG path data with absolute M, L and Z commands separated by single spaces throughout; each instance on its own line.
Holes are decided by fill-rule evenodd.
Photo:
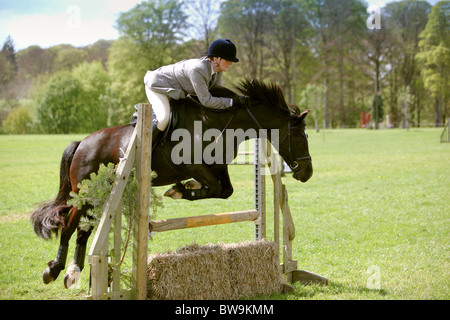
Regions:
M 283 258 L 280 270 L 290 282 L 302 284 L 327 284 L 328 280 L 308 271 L 297 270 L 297 261 L 292 260 L 292 241 L 295 238 L 295 226 L 289 210 L 288 194 L 281 181 L 279 162 L 272 152 L 270 142 L 255 139 L 255 209 L 237 212 L 203 215 L 197 217 L 175 218 L 149 221 L 150 167 L 151 167 L 151 121 L 152 109 L 149 104 L 139 104 L 138 122 L 133 132 L 125 156 L 117 170 L 111 195 L 103 207 L 102 218 L 89 251 L 91 266 L 91 295 L 87 299 L 146 299 L 147 296 L 147 260 L 149 233 L 203 227 L 241 221 L 253 221 L 255 239 L 266 238 L 266 193 L 265 172 L 261 159 L 267 160 L 266 167 L 274 186 L 274 242 L 280 247 L 280 208 L 283 214 Z M 265 141 L 261 143 L 260 140 Z M 114 257 L 112 264 L 121 259 L 121 200 L 133 165 L 136 164 L 136 213 L 133 220 L 133 267 L 130 289 L 121 289 L 120 270 L 113 269 L 112 285 L 108 284 L 108 235 L 114 223 Z M 279 250 L 278 250 L 279 251 Z

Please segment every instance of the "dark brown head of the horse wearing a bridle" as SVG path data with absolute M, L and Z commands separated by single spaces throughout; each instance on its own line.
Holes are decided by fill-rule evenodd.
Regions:
M 280 130 L 279 152 L 293 171 L 293 177 L 301 182 L 308 181 L 313 174 L 311 155 L 308 148 L 308 135 L 305 131 L 305 117 L 309 110 L 299 116 L 293 115 L 285 130 Z M 283 132 L 284 131 L 284 132 Z

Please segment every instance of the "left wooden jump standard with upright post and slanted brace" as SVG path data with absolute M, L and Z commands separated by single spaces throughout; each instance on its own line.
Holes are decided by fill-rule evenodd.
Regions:
M 123 159 L 116 169 L 111 194 L 103 207 L 102 218 L 89 250 L 91 265 L 91 299 L 145 299 L 147 296 L 147 256 L 148 256 L 148 213 L 150 201 L 150 164 L 151 164 L 151 122 L 152 110 L 148 104 L 139 104 L 138 123 L 133 131 Z M 135 161 L 136 160 L 136 161 Z M 120 290 L 120 270 L 113 272 L 113 286 L 107 292 L 108 285 L 108 235 L 115 220 L 115 249 L 120 249 L 121 215 L 118 213 L 123 191 L 133 165 L 136 163 L 136 179 L 139 184 L 136 193 L 137 210 L 133 217 L 133 269 L 132 290 Z M 120 254 L 113 258 L 117 263 Z

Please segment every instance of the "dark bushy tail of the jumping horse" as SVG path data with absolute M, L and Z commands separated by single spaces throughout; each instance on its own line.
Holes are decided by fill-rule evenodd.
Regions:
M 70 183 L 70 164 L 80 142 L 74 141 L 64 150 L 59 172 L 59 192 L 56 199 L 42 203 L 31 214 L 31 223 L 34 227 L 34 232 L 44 239 L 49 239 L 52 232 L 58 235 L 59 228 L 64 227 L 64 216 L 72 208 L 72 206 L 67 204 L 70 191 L 72 190 Z

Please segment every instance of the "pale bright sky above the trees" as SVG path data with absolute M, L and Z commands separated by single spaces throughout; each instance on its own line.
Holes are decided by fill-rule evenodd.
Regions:
M 383 7 L 393 0 L 366 0 Z M 142 0 L 0 0 L 0 45 L 10 35 L 16 51 L 31 45 L 86 46 L 119 37 L 115 21 Z M 428 0 L 432 5 L 438 0 Z M 368 15 L 369 16 L 369 15 Z

